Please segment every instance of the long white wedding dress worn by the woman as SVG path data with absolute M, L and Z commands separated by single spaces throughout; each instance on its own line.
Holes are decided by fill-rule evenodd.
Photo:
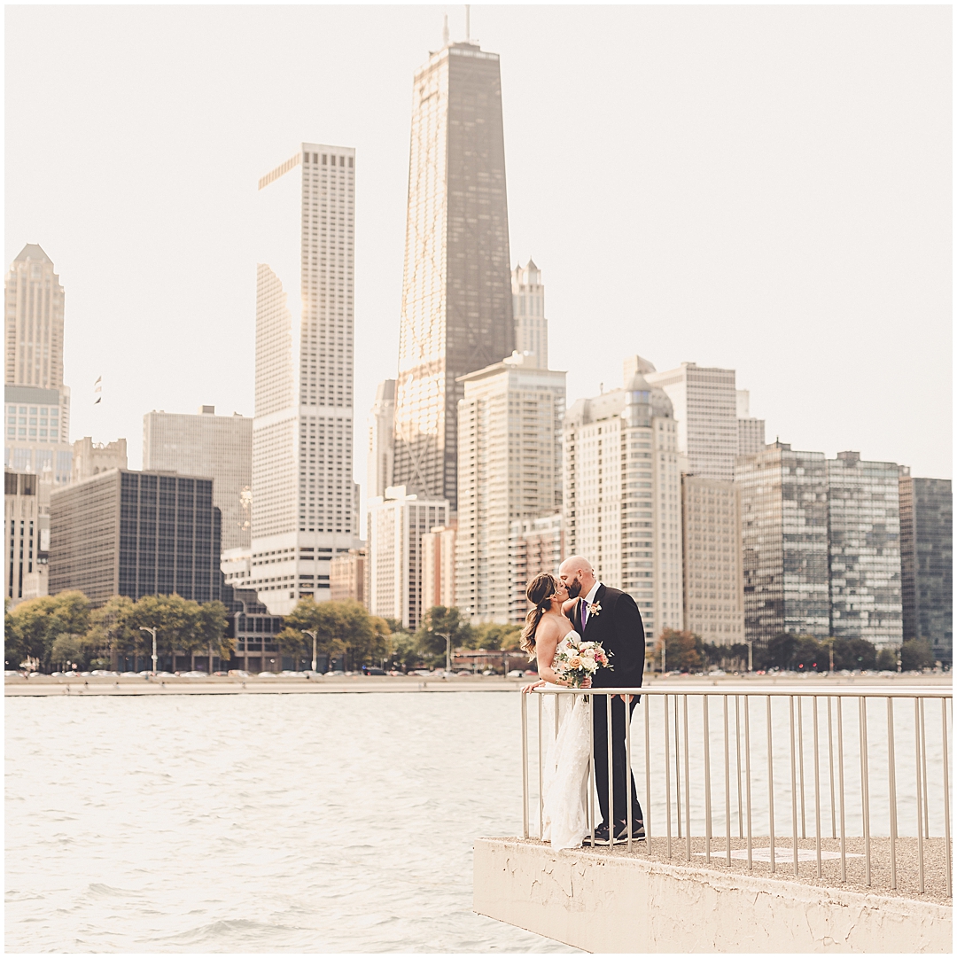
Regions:
M 574 629 L 558 643 L 558 651 L 569 640 L 579 639 Z M 547 689 L 565 686 L 546 684 Z M 584 696 L 547 696 L 560 708 L 558 736 L 545 759 L 542 776 L 542 838 L 552 848 L 581 848 L 588 834 L 588 764 L 591 757 L 591 723 Z M 554 716 L 552 720 L 554 728 Z

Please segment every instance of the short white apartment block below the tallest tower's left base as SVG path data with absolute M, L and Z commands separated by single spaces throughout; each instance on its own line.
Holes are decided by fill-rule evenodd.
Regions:
M 422 605 L 422 536 L 448 523 L 448 503 L 404 486 L 369 500 L 369 611 L 416 629 Z

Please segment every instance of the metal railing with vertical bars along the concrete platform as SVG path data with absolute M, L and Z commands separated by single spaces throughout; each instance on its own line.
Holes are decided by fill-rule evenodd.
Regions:
M 907 883 L 916 879 L 914 890 L 923 894 L 928 890 L 928 843 L 933 841 L 930 858 L 936 879 L 930 890 L 946 891 L 950 897 L 953 705 L 949 688 L 809 691 L 775 686 L 759 692 L 753 685 L 746 689 L 652 685 L 642 689 L 537 689 L 535 697 L 521 696 L 525 838 L 542 836 L 547 749 L 577 696 L 587 696 L 592 728 L 595 710 L 606 712 L 607 741 L 598 747 L 604 744 L 607 748 L 608 818 L 621 820 L 614 811 L 612 763 L 612 696 L 617 695 L 626 701 L 626 715 L 632 700 L 641 703 L 625 723 L 625 820 L 633 821 L 628 785 L 634 774 L 636 794 L 644 791 L 647 840 L 640 842 L 628 827 L 624 842 L 628 852 L 634 844 L 650 853 L 654 836 L 655 854 L 670 858 L 676 846 L 683 845 L 683 857 L 691 861 L 693 846 L 699 847 L 703 837 L 703 850 L 695 855 L 709 863 L 719 856 L 730 866 L 733 858 L 746 857 L 751 872 L 756 860 L 763 860 L 766 853 L 774 873 L 781 860 L 779 853 L 786 852 L 785 861 L 790 859 L 794 875 L 801 874 L 799 861 L 812 860 L 816 878 L 823 876 L 823 862 L 839 855 L 842 882 L 849 880 L 848 859 L 862 858 L 862 883 L 872 886 L 877 848 L 881 875 L 889 878 L 890 888 L 897 889 L 903 843 Z M 636 757 L 631 726 L 639 720 L 643 734 L 637 736 L 641 754 Z M 913 756 L 899 767 L 898 752 L 909 751 L 911 745 Z M 584 841 L 592 847 L 597 815 L 595 747 L 592 736 L 589 834 Z M 718 774 L 713 766 L 716 755 Z M 639 787 L 642 779 L 643 789 Z M 530 828 L 535 818 L 537 835 L 533 836 Z M 873 829 L 876 819 L 877 832 Z M 719 830 L 723 825 L 723 836 L 716 835 L 716 823 Z M 814 842 L 812 854 L 809 848 L 800 847 L 802 842 L 809 844 L 809 833 Z M 836 846 L 830 850 L 822 847 L 829 837 Z M 761 838 L 766 845 L 761 842 L 759 848 L 755 839 Z M 789 848 L 785 849 L 787 838 Z M 850 840 L 859 851 L 849 848 Z M 716 848 L 716 843 L 723 848 Z M 733 849 L 735 844 L 740 847 Z M 889 867 L 885 868 L 888 854 Z M 917 874 L 913 875 L 915 865 Z M 942 870 L 944 887 L 939 883 Z

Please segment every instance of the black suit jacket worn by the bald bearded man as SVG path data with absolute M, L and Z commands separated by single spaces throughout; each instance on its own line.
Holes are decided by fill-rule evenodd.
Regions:
M 613 669 L 599 669 L 592 685 L 596 689 L 636 688 L 641 686 L 645 674 L 645 625 L 634 599 L 607 585 L 600 585 L 595 593 L 595 603 L 602 611 L 589 613 L 585 627 L 581 628 L 581 604 L 572 609 L 572 623 L 582 641 L 601 642 Z

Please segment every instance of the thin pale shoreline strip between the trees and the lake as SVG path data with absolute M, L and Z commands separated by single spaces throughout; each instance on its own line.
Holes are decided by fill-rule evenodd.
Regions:
M 305 678 L 302 676 L 277 675 L 276 678 L 250 676 L 213 676 L 207 678 L 186 678 L 167 676 L 143 678 L 140 676 L 91 675 L 89 677 L 55 677 L 36 675 L 24 678 L 22 675 L 9 675 L 4 681 L 4 695 L 10 697 L 43 696 L 221 696 L 221 695 L 345 695 L 399 692 L 518 692 L 531 679 L 503 678 L 501 676 L 468 675 L 454 678 L 427 677 L 423 675 L 346 675 L 334 678 Z M 795 675 L 784 673 L 776 675 L 669 675 L 665 678 L 649 679 L 646 688 L 680 686 L 725 686 L 747 685 L 760 695 L 764 688 L 787 686 L 807 689 L 808 695 L 817 690 L 823 694 L 829 688 L 874 688 L 888 689 L 921 687 L 926 689 L 951 687 L 950 673 L 936 674 L 860 674 Z

